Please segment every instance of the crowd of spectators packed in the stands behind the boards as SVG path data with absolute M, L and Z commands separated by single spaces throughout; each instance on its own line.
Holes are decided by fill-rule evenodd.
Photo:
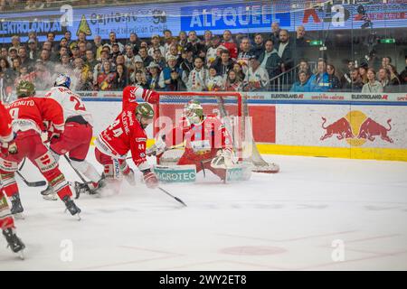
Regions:
M 90 41 L 85 33 L 77 40 L 71 33 L 56 42 L 48 33 L 39 42 L 29 33 L 27 42 L 18 35 L 11 45 L 0 45 L 0 87 L 11 91 L 21 79 L 32 80 L 37 90 L 49 89 L 57 73 L 71 76 L 75 90 L 121 90 L 127 85 L 166 91 L 266 91 L 284 72 L 294 72 L 287 90 L 398 92 L 407 83 L 407 70 L 399 74 L 392 59 L 383 57 L 380 70 L 349 61 L 344 75 L 324 59 L 315 71 L 300 59 L 308 47 L 305 29 L 297 28 L 293 40 L 289 32 L 271 25 L 271 33 L 222 35 L 206 31 L 202 38 L 194 31 L 142 40 L 131 33 L 118 40 L 114 32 L 103 42 L 99 35 Z M 407 58 L 406 58 L 407 66 Z M 274 83 L 274 82 L 273 82 Z

